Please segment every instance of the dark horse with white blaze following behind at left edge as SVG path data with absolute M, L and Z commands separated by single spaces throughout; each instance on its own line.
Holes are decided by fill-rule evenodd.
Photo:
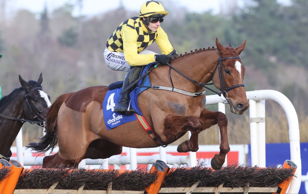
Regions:
M 20 88 L 0 100 L 0 158 L 9 160 L 11 146 L 24 122 L 44 126 L 50 97 L 43 91 L 42 73 L 38 81 L 26 82 L 19 75 Z

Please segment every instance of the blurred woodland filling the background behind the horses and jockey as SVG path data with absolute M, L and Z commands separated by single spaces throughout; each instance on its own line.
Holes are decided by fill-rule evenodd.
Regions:
M 2 95 L 20 87 L 19 74 L 27 80 L 37 79 L 42 72 L 43 89 L 51 96 L 52 102 L 63 93 L 123 80 L 126 73 L 109 69 L 103 51 L 116 27 L 139 12 L 128 11 L 120 5 L 93 17 L 82 16 L 81 12 L 73 16 L 74 9 L 82 9 L 80 2 L 65 4 L 52 12 L 43 7 L 40 14 L 20 10 L 5 20 L 6 25 L 0 26 L 0 52 L 4 56 L 0 60 Z M 246 49 L 241 53 L 246 67 L 246 91 L 277 90 L 291 100 L 298 113 L 307 114 L 306 0 L 292 0 L 290 6 L 281 5 L 276 0 L 249 0 L 245 1 L 243 8 L 238 7 L 237 0 L 225 1 L 221 12 L 216 15 L 210 11 L 189 12 L 174 1 L 165 1 L 164 7 L 169 15 L 161 26 L 177 53 L 215 46 L 216 37 L 225 46 L 229 43 L 238 46 L 247 39 Z M 148 49 L 159 52 L 156 44 Z M 207 95 L 213 94 L 206 92 Z M 207 108 L 216 109 L 214 106 Z M 279 112 L 272 103 L 267 104 L 266 109 Z M 238 143 L 241 135 L 249 134 L 249 126 L 245 124 L 249 123 L 248 113 L 238 116 L 226 112 L 229 134 L 233 136 L 230 143 Z M 274 117 L 271 113 L 268 116 L 272 122 L 277 122 L 276 126 L 284 124 L 284 118 Z M 300 118 L 304 123 L 306 118 Z M 237 130 L 239 126 L 240 130 Z M 33 138 L 30 141 L 36 141 L 35 136 L 42 136 L 38 127 L 24 127 L 26 136 Z M 37 131 L 40 131 L 38 135 Z M 210 143 L 206 137 L 212 136 L 211 132 L 217 133 L 206 130 L 204 138 L 200 138 L 201 144 Z M 305 138 L 301 137 L 301 140 Z M 247 139 L 242 143 L 248 143 L 249 135 L 240 139 Z

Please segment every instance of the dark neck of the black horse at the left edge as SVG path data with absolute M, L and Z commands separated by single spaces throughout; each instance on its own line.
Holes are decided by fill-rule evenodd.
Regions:
M 18 93 L 14 98 L 0 107 L 0 114 L 13 117 L 24 118 L 25 100 L 23 92 Z M 0 116 L 0 154 L 8 156 L 10 148 L 20 131 L 23 123 Z

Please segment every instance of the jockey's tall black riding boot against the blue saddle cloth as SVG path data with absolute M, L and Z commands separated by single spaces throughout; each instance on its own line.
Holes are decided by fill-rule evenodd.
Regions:
M 129 75 L 131 73 L 131 69 L 127 72 L 124 82 L 123 82 L 123 87 L 122 91 L 129 86 Z M 126 112 L 129 112 L 128 114 L 135 113 L 136 110 L 130 109 L 128 110 L 128 98 L 129 94 L 131 93 L 131 89 L 127 90 L 125 93 L 121 94 L 121 97 L 119 99 L 119 102 L 117 103 L 116 107 L 114 108 L 114 112 L 120 113 L 120 114 L 126 114 Z

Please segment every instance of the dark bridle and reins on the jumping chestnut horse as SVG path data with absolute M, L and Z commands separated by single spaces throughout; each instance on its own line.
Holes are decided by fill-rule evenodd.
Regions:
M 218 72 L 219 72 L 219 80 L 220 80 L 220 92 L 216 92 L 215 90 L 212 90 L 211 88 L 207 87 L 206 85 L 212 85 L 214 83 L 209 83 L 209 84 L 205 84 L 205 83 L 199 83 L 193 79 L 191 79 L 190 77 L 186 76 L 185 74 L 183 74 L 182 72 L 180 72 L 179 70 L 177 70 L 176 68 L 174 68 L 173 66 L 171 66 L 169 63 L 167 63 L 167 65 L 170 67 L 170 70 L 173 69 L 174 71 L 176 71 L 178 74 L 180 74 L 181 76 L 185 77 L 186 79 L 188 79 L 189 81 L 192 81 L 198 85 L 201 85 L 202 87 L 208 89 L 208 90 L 211 90 L 212 92 L 218 94 L 220 97 L 222 95 L 222 93 L 225 93 L 227 96 L 224 100 L 224 102 L 227 102 L 229 101 L 230 99 L 228 98 L 228 91 L 234 89 L 234 88 L 237 88 L 237 87 L 245 87 L 244 84 L 238 84 L 238 85 L 234 85 L 234 86 L 231 86 L 229 88 L 227 88 L 226 84 L 225 84 L 225 81 L 223 80 L 223 73 L 222 73 L 222 68 L 221 68 L 221 61 L 223 60 L 226 60 L 226 59 L 240 59 L 241 57 L 225 57 L 225 58 L 221 58 L 220 55 L 219 55 L 219 58 L 218 58 L 218 63 L 215 67 L 215 70 L 212 74 L 212 80 L 213 80 L 213 77 L 214 77 L 214 73 L 216 72 L 216 69 L 218 67 Z M 172 78 L 171 78 L 171 72 L 169 71 L 169 76 L 170 76 L 170 80 L 171 80 L 171 83 L 172 83 Z M 173 87 L 173 83 L 172 83 L 172 87 Z M 225 88 L 225 89 L 224 89 Z

